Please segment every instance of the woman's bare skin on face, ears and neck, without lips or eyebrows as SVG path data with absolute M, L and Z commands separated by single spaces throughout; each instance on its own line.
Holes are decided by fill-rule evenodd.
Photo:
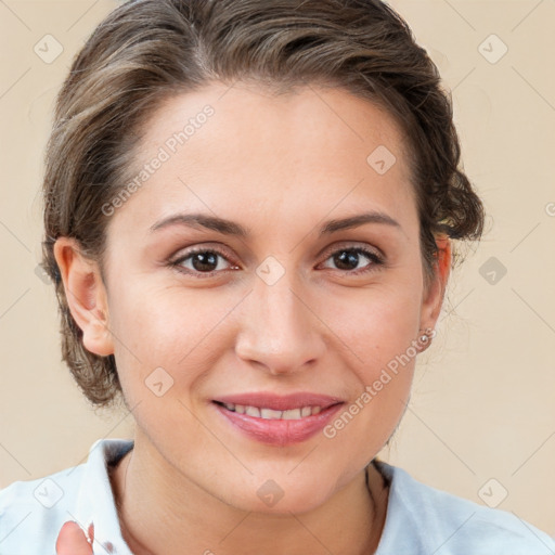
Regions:
M 137 169 L 206 104 L 215 115 L 111 217 L 105 283 L 74 240 L 61 237 L 54 249 L 85 346 L 115 354 L 135 418 L 134 449 L 112 477 L 124 538 L 139 555 L 373 553 L 388 489 L 371 466 L 369 491 L 364 468 L 403 415 L 414 358 L 331 439 L 266 446 L 230 426 L 211 400 L 304 390 L 354 403 L 423 328 L 434 328 L 449 241 L 426 287 L 401 131 L 387 113 L 338 89 L 275 96 L 212 83 L 177 95 L 145 125 Z M 366 163 L 379 145 L 397 157 L 384 175 Z M 318 235 L 323 221 L 370 210 L 399 227 Z M 150 231 L 162 218 L 197 211 L 250 235 L 179 224 Z M 195 257 L 182 261 L 190 274 L 168 263 L 193 246 L 221 251 L 211 276 Z M 385 263 L 359 255 L 339 266 L 354 247 Z M 285 272 L 273 285 L 256 273 L 268 256 Z M 145 386 L 159 366 L 173 379 L 162 397 Z M 268 479 L 284 492 L 272 507 L 257 495 Z

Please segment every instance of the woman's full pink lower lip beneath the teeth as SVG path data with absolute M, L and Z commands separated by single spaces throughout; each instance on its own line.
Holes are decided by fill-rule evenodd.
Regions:
M 251 439 L 271 446 L 300 443 L 317 435 L 333 418 L 343 403 L 328 406 L 318 414 L 299 420 L 267 420 L 229 411 L 225 406 L 212 402 L 228 422 Z

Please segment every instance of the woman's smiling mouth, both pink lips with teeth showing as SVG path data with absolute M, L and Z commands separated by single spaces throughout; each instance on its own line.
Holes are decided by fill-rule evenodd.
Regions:
M 246 393 L 212 400 L 234 433 L 270 446 L 285 447 L 318 434 L 345 402 L 313 393 Z

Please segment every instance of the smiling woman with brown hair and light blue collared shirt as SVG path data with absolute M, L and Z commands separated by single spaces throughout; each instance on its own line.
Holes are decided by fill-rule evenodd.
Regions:
M 1 553 L 555 552 L 376 459 L 451 240 L 482 231 L 459 159 L 437 69 L 382 2 L 113 12 L 59 96 L 44 268 L 64 360 L 134 441 L 3 490 Z

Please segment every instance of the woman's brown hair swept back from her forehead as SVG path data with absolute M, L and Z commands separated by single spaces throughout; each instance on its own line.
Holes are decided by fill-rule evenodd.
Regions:
M 481 236 L 483 208 L 459 168 L 450 95 L 386 3 L 128 1 L 96 27 L 72 65 L 56 101 L 43 182 L 42 266 L 55 283 L 63 359 L 94 405 L 111 405 L 121 392 L 115 359 L 83 347 L 53 244 L 75 237 L 102 268 L 109 220 L 102 206 L 127 183 L 149 116 L 170 95 L 235 80 L 275 93 L 305 83 L 340 87 L 395 117 L 411 154 L 426 280 L 435 272 L 438 234 Z

